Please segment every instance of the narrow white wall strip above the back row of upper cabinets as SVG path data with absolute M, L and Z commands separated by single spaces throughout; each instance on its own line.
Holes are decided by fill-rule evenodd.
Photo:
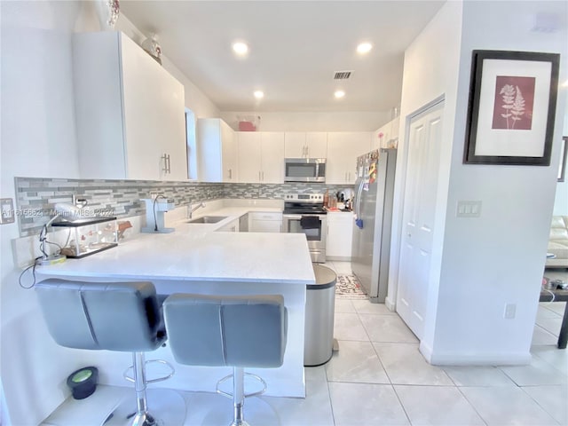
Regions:
M 390 111 L 268 113 L 224 111 L 221 118 L 233 130 L 239 129 L 238 115 L 260 116 L 260 131 L 373 131 L 390 121 Z

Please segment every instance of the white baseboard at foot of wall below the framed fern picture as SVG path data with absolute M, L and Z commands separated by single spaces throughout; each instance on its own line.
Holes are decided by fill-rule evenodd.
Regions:
M 420 343 L 424 358 L 434 366 L 525 366 L 531 363 L 530 352 L 513 353 L 435 353 L 425 344 Z

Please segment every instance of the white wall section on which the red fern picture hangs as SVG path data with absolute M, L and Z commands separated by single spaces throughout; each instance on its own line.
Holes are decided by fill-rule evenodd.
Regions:
M 565 2 L 465 2 L 446 229 L 437 300 L 430 294 L 421 350 L 436 364 L 514 364 L 530 346 L 556 193 L 565 90 L 559 92 L 549 167 L 462 163 L 471 51 L 568 51 L 566 27 L 535 33 L 537 12 L 567 16 Z M 480 31 L 479 28 L 483 28 Z M 565 62 L 560 81 L 566 79 Z M 448 103 L 449 104 L 449 103 Z M 449 105 L 448 105 L 449 106 Z M 443 162 L 446 162 L 444 160 Z M 482 201 L 481 217 L 455 217 L 459 200 Z M 440 213 L 440 216 L 443 214 Z M 516 304 L 515 319 L 504 319 Z

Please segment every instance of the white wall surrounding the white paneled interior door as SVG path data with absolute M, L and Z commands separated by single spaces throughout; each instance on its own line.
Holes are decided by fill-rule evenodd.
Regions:
M 443 146 L 438 175 L 438 212 L 434 233 L 432 273 L 430 277 L 431 297 L 437 298 L 439 271 L 441 267 L 444 222 L 446 220 L 446 199 L 449 185 L 450 155 L 454 144 L 454 118 L 457 96 L 457 75 L 461 42 L 461 2 L 446 3 L 414 42 L 406 49 L 405 67 L 402 80 L 402 99 L 398 129 L 397 177 L 395 181 L 393 233 L 391 241 L 389 290 L 386 304 L 391 308 L 396 303 L 398 283 L 398 255 L 402 231 L 403 192 L 405 187 L 406 125 L 410 117 L 435 99 L 445 99 L 443 120 Z M 443 45 L 444 49 L 439 46 Z M 435 313 L 435 310 L 430 310 Z M 428 321 L 429 319 L 427 319 Z M 431 320 L 431 319 L 430 319 Z

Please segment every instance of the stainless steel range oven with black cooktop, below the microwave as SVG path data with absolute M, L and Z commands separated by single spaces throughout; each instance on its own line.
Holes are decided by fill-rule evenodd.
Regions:
M 327 211 L 323 193 L 288 193 L 284 195 L 283 233 L 304 233 L 312 262 L 326 261 Z

